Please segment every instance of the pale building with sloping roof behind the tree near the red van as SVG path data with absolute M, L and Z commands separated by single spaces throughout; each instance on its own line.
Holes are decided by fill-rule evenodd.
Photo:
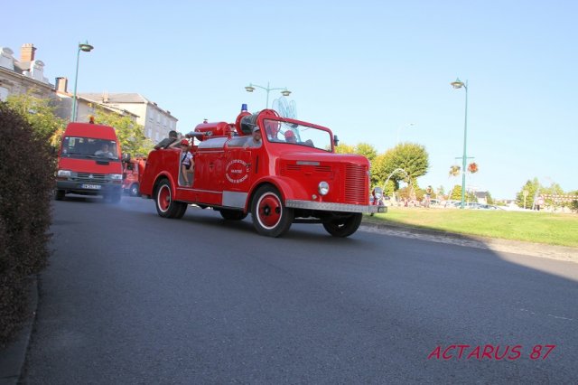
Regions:
M 136 123 L 144 127 L 144 136 L 154 142 L 169 135 L 169 131 L 177 129 L 176 117 L 171 111 L 158 107 L 156 103 L 137 93 L 79 93 L 79 97 L 92 100 L 101 106 L 130 111 L 135 114 Z

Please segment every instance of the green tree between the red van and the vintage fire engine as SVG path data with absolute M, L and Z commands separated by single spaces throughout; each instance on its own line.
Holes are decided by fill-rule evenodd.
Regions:
M 144 136 L 144 127 L 136 124 L 131 117 L 120 116 L 98 108 L 95 121 L 99 125 L 115 127 L 118 142 L 125 154 L 147 155 L 153 149 L 153 142 Z

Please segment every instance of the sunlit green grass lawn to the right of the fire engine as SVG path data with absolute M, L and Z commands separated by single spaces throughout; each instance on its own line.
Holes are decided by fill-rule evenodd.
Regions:
M 578 248 L 578 214 L 388 207 L 364 221 Z

